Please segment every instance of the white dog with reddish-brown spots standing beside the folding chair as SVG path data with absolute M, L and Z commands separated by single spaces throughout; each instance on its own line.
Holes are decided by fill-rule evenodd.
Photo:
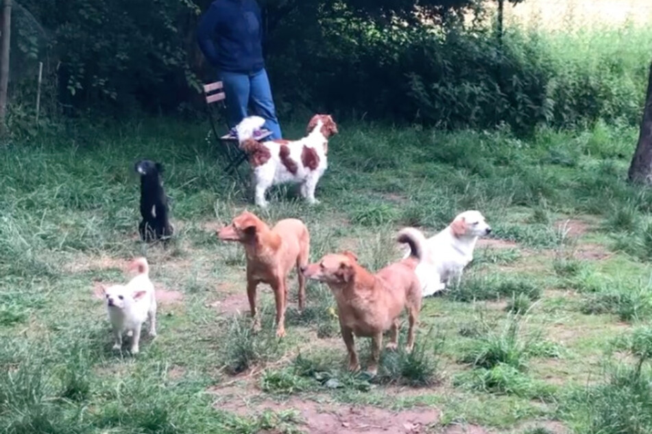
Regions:
M 276 184 L 301 184 L 301 195 L 309 203 L 315 199 L 315 188 L 326 167 L 328 138 L 337 134 L 337 125 L 328 114 L 315 114 L 308 124 L 307 136 L 299 140 L 258 142 L 240 138 L 240 147 L 249 155 L 256 186 L 255 201 L 267 207 L 265 192 Z

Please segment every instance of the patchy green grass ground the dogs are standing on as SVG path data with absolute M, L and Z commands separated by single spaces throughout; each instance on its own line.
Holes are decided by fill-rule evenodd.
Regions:
M 5 147 L 0 431 L 298 432 L 302 415 L 290 398 L 317 400 L 335 412 L 437 407 L 441 425 L 500 432 L 546 420 L 585 433 L 601 421 L 650 430 L 642 411 L 599 418 L 609 406 L 620 411 L 616 396 L 647 405 L 644 381 L 603 379 L 601 360 L 609 342 L 630 329 L 636 333 L 620 349 L 628 357 L 648 354 L 652 314 L 646 262 L 652 196 L 625 182 L 629 153 L 619 157 L 608 146 L 631 148 L 632 133 L 611 128 L 541 129 L 526 140 L 503 129 L 344 122 L 317 190 L 322 203 L 311 207 L 292 189 L 276 188 L 265 211 L 223 175 L 203 125 L 149 119 L 79 126 L 68 136 Z M 299 136 L 304 125 L 285 129 Z M 386 154 L 397 143 L 401 158 Z M 571 151 L 573 164 L 561 164 L 559 155 Z M 166 166 L 178 227 L 167 248 L 134 236 L 138 181 L 131 168 L 141 157 Z M 274 335 L 271 291 L 261 288 L 263 329 L 254 333 L 242 248 L 214 234 L 242 209 L 269 221 L 301 218 L 311 232 L 312 260 L 350 249 L 377 270 L 400 259 L 398 229 L 418 225 L 431 235 L 468 208 L 487 216 L 495 240 L 476 249 L 459 286 L 424 300 L 415 349 L 384 350 L 376 378 L 346 369 L 335 300 L 324 285 L 309 284 L 299 312 L 291 275 L 282 340 Z M 564 229 L 569 218 L 570 226 L 581 220 L 590 229 Z M 147 255 L 158 288 L 182 298 L 160 302 L 158 337 L 145 338 L 141 353 L 130 357 L 110 350 L 93 285 L 124 281 L 123 266 L 136 255 Z M 406 329 L 402 317 L 401 342 Z M 369 340 L 356 344 L 365 364 Z M 648 371 L 645 362 L 641 378 Z M 222 400 L 225 394 L 235 397 Z M 582 396 L 596 397 L 594 405 Z M 278 404 L 274 411 L 261 405 L 269 400 Z

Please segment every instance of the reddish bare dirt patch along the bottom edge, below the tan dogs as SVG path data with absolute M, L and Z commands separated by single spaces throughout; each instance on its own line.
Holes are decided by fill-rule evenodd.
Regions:
M 272 400 L 254 402 L 248 398 L 219 399 L 214 404 L 250 416 L 265 410 L 298 411 L 303 421 L 303 429 L 311 434 L 419 434 L 428 432 L 428 426 L 439 420 L 437 409 L 415 407 L 403 411 L 390 411 L 369 405 L 338 405 L 335 403 L 316 403 L 313 400 L 291 398 L 285 403 Z

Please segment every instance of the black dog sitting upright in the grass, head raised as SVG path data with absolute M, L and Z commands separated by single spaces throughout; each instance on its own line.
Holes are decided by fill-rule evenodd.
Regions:
M 168 220 L 167 196 L 163 190 L 163 166 L 149 159 L 136 163 L 136 173 L 141 175 L 141 216 L 138 225 L 143 241 L 167 240 L 174 228 Z

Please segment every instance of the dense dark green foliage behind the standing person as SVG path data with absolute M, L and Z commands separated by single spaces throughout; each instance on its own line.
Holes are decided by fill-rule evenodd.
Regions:
M 198 108 L 198 85 L 215 74 L 194 38 L 208 3 L 21 0 L 21 10 L 43 28 L 36 36 L 43 36 L 21 25 L 14 58 L 47 60 L 49 94 L 69 113 L 88 109 L 123 116 L 128 110 Z M 490 21 L 463 19 L 464 13 L 485 17 L 486 2 L 431 0 L 418 2 L 418 8 L 413 0 L 261 5 L 267 64 L 282 116 L 326 110 L 447 128 L 507 123 L 520 131 L 599 118 L 636 123 L 640 117 L 649 59 L 634 55 L 632 61 L 633 54 L 618 47 L 583 59 L 560 58 L 542 35 L 514 26 L 496 38 Z M 14 88 L 21 81 L 34 87 L 34 74 L 14 76 L 19 78 Z

